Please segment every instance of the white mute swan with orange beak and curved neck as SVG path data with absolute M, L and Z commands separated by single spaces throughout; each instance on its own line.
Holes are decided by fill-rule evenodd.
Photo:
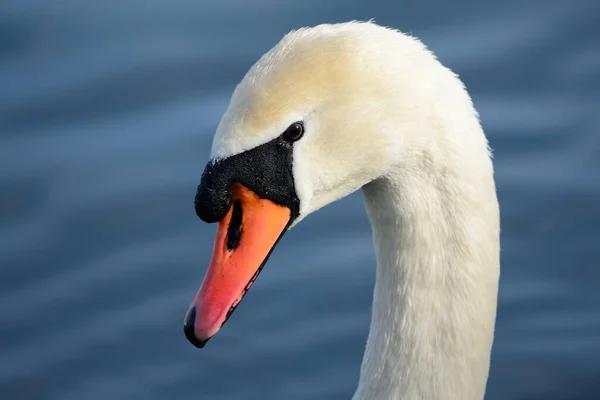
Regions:
M 372 21 L 292 31 L 235 88 L 195 197 L 218 227 L 186 337 L 203 347 L 283 234 L 358 189 L 377 269 L 353 399 L 482 399 L 500 274 L 491 152 L 457 75 Z

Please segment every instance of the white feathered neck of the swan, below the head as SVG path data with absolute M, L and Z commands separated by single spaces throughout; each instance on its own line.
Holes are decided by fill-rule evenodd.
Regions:
M 491 168 L 364 187 L 377 272 L 354 400 L 483 399 L 499 279 Z

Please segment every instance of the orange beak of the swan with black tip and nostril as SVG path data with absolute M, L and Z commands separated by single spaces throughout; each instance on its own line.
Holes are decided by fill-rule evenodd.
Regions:
M 261 199 L 239 183 L 232 185 L 231 194 L 204 281 L 185 316 L 185 335 L 200 348 L 252 286 L 291 219 L 289 208 Z

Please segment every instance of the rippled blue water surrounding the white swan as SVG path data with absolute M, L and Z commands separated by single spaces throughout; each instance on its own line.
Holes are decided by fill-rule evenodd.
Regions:
M 0 398 L 349 399 L 374 253 L 360 193 L 286 235 L 202 351 L 193 197 L 235 84 L 291 29 L 375 18 L 469 88 L 495 149 L 488 400 L 600 398 L 600 2 L 3 0 Z

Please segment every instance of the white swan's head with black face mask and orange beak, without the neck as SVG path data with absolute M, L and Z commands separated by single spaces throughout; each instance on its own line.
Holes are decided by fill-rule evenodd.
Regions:
M 291 226 L 418 168 L 424 151 L 435 164 L 437 127 L 463 112 L 436 99 L 462 90 L 420 41 L 370 22 L 303 28 L 267 52 L 236 87 L 198 186 L 196 212 L 218 229 L 188 339 L 203 347 L 220 329 Z

